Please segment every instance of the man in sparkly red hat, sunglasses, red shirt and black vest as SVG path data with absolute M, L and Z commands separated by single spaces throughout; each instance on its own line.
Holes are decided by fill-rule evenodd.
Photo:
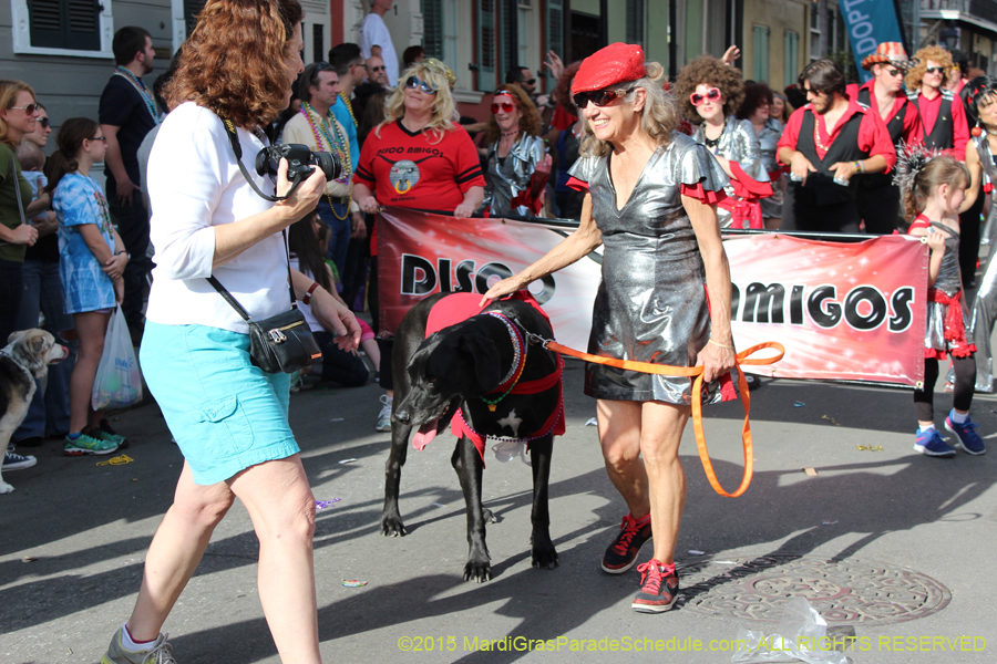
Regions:
M 862 87 L 854 86 L 859 103 L 878 114 L 897 152 L 901 143 L 921 143 L 921 115 L 904 94 L 904 74 L 914 64 L 907 59 L 903 44 L 883 42 L 862 60 L 862 69 L 872 72 L 873 77 Z M 850 85 L 849 96 L 852 94 L 853 86 Z M 901 193 L 891 174 L 870 173 L 860 177 L 855 205 L 865 221 L 865 232 L 890 235 L 896 230 L 901 218 Z

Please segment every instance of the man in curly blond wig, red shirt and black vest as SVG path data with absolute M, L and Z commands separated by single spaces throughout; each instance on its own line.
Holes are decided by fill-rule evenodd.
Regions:
M 952 55 L 938 45 L 925 46 L 914 54 L 916 64 L 907 72 L 907 98 L 921 114 L 921 139 L 928 149 L 937 149 L 956 159 L 966 156 L 969 124 L 962 100 L 946 90 L 952 74 Z

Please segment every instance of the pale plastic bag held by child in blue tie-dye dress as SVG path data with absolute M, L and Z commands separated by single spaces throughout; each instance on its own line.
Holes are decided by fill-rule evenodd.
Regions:
M 90 404 L 94 411 L 123 408 L 142 401 L 142 374 L 132 347 L 129 324 L 121 307 L 116 307 L 107 323 L 104 354 L 93 381 Z

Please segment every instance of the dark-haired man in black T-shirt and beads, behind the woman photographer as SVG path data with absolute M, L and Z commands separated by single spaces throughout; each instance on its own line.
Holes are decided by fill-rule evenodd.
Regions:
M 145 328 L 143 312 L 152 264 L 148 250 L 148 212 L 140 191 L 138 146 L 161 116 L 156 100 L 142 76 L 153 71 L 152 37 L 143 28 L 125 27 L 111 43 L 117 66 L 101 94 L 101 131 L 107 139 L 104 157 L 107 206 L 129 252 L 124 271 L 122 310 L 132 341 L 138 345 Z

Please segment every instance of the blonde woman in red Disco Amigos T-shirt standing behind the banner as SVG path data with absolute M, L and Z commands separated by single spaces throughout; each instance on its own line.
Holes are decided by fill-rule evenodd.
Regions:
M 470 217 L 481 206 L 485 179 L 477 149 L 452 120 L 455 82 L 450 68 L 435 58 L 404 71 L 401 84 L 388 97 L 387 120 L 368 134 L 360 151 L 353 198 L 361 210 L 372 215 L 383 205 Z M 371 309 L 378 302 L 377 234 L 376 224 L 370 242 Z M 384 343 L 381 356 L 391 356 L 390 343 Z M 382 362 L 380 369 L 387 394 L 381 397 L 376 429 L 390 432 L 391 362 Z

